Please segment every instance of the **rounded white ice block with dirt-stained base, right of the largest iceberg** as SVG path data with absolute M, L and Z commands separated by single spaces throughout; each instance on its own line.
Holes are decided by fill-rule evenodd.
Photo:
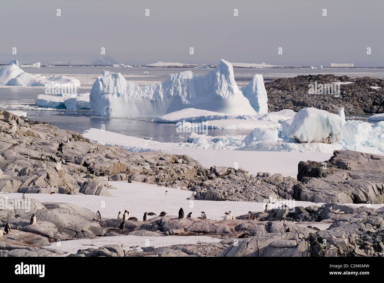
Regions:
M 316 108 L 301 109 L 293 118 L 288 138 L 299 143 L 336 143 L 344 121 L 337 114 Z

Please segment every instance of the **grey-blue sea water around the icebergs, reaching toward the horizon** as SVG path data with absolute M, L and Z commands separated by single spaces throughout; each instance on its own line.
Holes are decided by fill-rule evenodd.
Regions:
M 154 67 L 41 67 L 25 68 L 26 72 L 43 75 L 68 75 L 81 82 L 78 93 L 90 92 L 96 78 L 103 69 L 121 74 L 140 85 L 147 82 L 165 81 L 169 74 L 191 70 L 195 75 L 204 76 L 209 71 L 202 68 L 154 68 Z M 147 71 L 149 73 L 143 73 Z M 384 69 L 259 69 L 234 68 L 235 80 L 239 87 L 246 86 L 255 74 L 263 74 L 265 81 L 294 77 L 306 74 L 334 74 L 337 76 L 370 76 L 384 78 Z M 35 105 L 39 94 L 44 94 L 45 87 L 0 86 L 0 109 L 23 110 L 28 117 L 51 123 L 59 128 L 84 132 L 89 128 L 131 135 L 140 138 L 152 138 L 159 142 L 186 142 L 187 133 L 177 133 L 174 124 L 156 123 L 154 118 L 103 118 L 95 117 L 91 110 L 57 110 L 40 108 Z M 366 121 L 369 115 L 346 115 L 347 118 Z M 209 130 L 208 135 L 247 135 L 251 130 Z

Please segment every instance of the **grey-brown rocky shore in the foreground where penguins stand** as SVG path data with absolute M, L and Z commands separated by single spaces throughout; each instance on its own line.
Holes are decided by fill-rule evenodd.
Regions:
M 210 236 L 219 242 L 166 247 L 111 244 L 79 249 L 69 256 L 384 256 L 384 207 L 371 207 L 384 202 L 382 156 L 335 151 L 324 163 L 301 161 L 297 179 L 262 172 L 253 176 L 241 168 L 204 168 L 188 155 L 132 153 L 99 145 L 78 133 L 3 110 L 0 127 L 0 191 L 5 193 L 108 197 L 107 189 L 114 189 L 108 181 L 138 181 L 190 190 L 197 200 L 325 203 L 267 207 L 252 212 L 255 220 L 248 220 L 248 214 L 231 220 L 180 219 L 175 208 L 166 216 L 126 220 L 121 230 L 121 219 L 95 219 L 95 212 L 75 204 L 30 199 L 26 212 L 5 199 L 7 194 L 0 194 L 1 203 L 14 205 L 0 209 L 1 230 L 7 223 L 11 229 L 0 238 L 0 256 L 58 256 L 64 253 L 52 243 L 121 235 Z M 368 205 L 343 204 L 351 202 Z M 33 214 L 36 224 L 30 224 Z

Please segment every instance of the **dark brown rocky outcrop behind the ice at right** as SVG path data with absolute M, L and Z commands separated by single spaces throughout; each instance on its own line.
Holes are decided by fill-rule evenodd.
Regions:
M 341 84 L 340 96 L 333 94 L 309 94 L 308 84 L 329 84 L 333 82 L 353 82 Z M 371 88 L 380 87 L 380 88 Z M 331 113 L 338 113 L 344 107 L 345 114 L 377 114 L 384 112 L 384 81 L 372 77 L 348 77 L 326 75 L 297 76 L 266 82 L 268 110 L 292 109 L 298 112 L 305 107 L 314 107 Z

